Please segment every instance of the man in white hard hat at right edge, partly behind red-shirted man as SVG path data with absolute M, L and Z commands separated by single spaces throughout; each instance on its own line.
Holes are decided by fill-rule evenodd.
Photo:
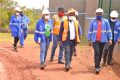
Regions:
M 110 27 L 112 30 L 112 45 L 109 45 L 109 43 L 106 43 L 105 48 L 104 48 L 104 55 L 103 55 L 103 66 L 106 64 L 108 65 L 113 65 L 112 62 L 112 55 L 113 55 L 113 50 L 115 47 L 116 42 L 120 42 L 120 22 L 118 21 L 118 12 L 113 10 L 110 14 Z

